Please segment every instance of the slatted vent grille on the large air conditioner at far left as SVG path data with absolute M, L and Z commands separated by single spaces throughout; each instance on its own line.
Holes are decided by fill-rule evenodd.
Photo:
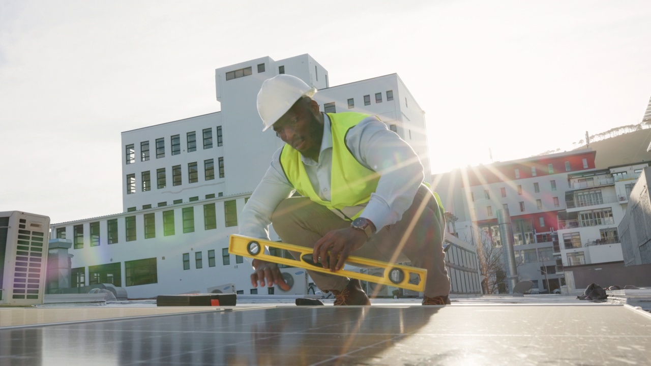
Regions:
M 14 289 L 12 298 L 37 300 L 44 266 L 45 233 L 42 231 L 29 231 L 25 227 L 27 222 L 20 219 L 18 225 L 18 240 L 16 246 L 16 266 L 14 272 Z M 30 227 L 35 225 L 30 224 Z M 42 225 L 41 225 L 42 226 Z

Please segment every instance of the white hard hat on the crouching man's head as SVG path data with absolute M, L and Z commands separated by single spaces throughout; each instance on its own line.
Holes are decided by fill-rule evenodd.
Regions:
M 296 76 L 280 74 L 266 79 L 258 92 L 258 113 L 264 129 L 273 126 L 302 96 L 312 96 L 316 88 L 311 88 Z

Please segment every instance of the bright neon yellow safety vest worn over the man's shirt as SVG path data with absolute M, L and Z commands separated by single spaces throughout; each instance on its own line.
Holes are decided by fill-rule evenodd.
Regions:
M 309 197 L 315 203 L 322 204 L 330 210 L 342 212 L 341 210 L 345 207 L 367 203 L 371 193 L 376 191 L 378 187 L 380 175 L 357 162 L 357 159 L 346 147 L 346 133 L 348 130 L 356 126 L 361 120 L 370 117 L 370 115 L 355 112 L 327 113 L 327 115 L 330 117 L 333 145 L 330 182 L 331 201 L 322 200 L 314 191 L 301 160 L 301 153 L 298 150 L 290 145 L 285 145 L 281 152 L 281 165 L 287 180 L 299 194 Z M 360 214 L 361 209 L 350 219 L 355 219 Z

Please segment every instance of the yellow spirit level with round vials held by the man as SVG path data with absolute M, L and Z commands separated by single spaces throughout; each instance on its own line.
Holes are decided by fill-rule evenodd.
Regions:
M 277 249 L 286 249 L 288 251 L 295 251 L 300 253 L 301 260 L 277 257 L 264 253 L 264 247 L 273 247 Z M 427 270 L 422 268 L 415 268 L 404 266 L 402 264 L 393 264 L 382 262 L 381 260 L 366 259 L 361 257 L 350 256 L 346 259 L 348 264 L 353 266 L 361 266 L 368 268 L 384 268 L 383 276 L 362 274 L 359 272 L 352 272 L 349 270 L 341 269 L 339 271 L 331 272 L 327 268 L 323 268 L 320 263 L 312 261 L 312 249 L 309 247 L 296 246 L 294 244 L 286 244 L 279 242 L 271 242 L 270 240 L 262 240 L 258 238 L 250 238 L 249 236 L 231 235 L 229 243 L 229 252 L 235 255 L 242 255 L 244 257 L 251 257 L 267 262 L 274 262 L 279 264 L 286 264 L 287 266 L 305 268 L 316 272 L 323 272 L 326 274 L 340 275 L 342 277 L 350 277 L 360 279 L 362 281 L 369 281 L 380 283 L 381 285 L 390 285 L 400 287 L 402 289 L 414 290 L 422 292 L 425 288 L 425 278 Z M 420 281 L 413 281 L 418 279 Z M 417 282 L 417 283 L 414 283 Z

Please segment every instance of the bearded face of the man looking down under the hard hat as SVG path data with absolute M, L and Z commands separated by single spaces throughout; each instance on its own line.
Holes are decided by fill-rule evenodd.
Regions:
M 294 104 L 273 124 L 273 130 L 303 156 L 318 160 L 324 131 L 323 125 L 312 110 L 311 102 L 312 100 L 308 99 Z

